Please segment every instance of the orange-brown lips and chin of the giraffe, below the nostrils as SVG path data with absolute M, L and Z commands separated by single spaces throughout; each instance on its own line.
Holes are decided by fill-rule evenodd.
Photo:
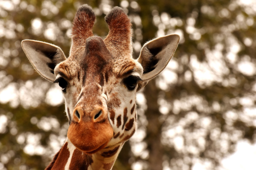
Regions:
M 67 136 L 77 149 L 92 154 L 105 148 L 113 134 L 114 131 L 109 122 L 103 124 L 71 122 Z

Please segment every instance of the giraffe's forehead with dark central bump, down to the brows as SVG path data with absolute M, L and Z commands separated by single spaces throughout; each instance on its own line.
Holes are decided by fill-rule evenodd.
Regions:
M 123 53 L 120 56 L 105 45 L 100 37 L 92 36 L 86 40 L 84 46 L 77 48 L 67 60 L 59 64 L 55 74 L 65 74 L 68 79 L 71 79 L 72 76 L 80 73 L 90 75 L 108 73 L 119 78 L 142 70 L 142 68 L 136 68 L 137 65 L 139 64 L 130 53 Z

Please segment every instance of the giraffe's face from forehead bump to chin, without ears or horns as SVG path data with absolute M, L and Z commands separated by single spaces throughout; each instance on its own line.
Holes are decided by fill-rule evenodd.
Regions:
M 142 72 L 138 61 L 114 57 L 97 36 L 55 67 L 54 82 L 63 89 L 70 123 L 68 138 L 77 148 L 92 153 L 134 134 Z

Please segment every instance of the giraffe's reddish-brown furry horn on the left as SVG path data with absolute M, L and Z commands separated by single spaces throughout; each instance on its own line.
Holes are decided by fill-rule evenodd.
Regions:
M 95 14 L 92 8 L 87 4 L 82 5 L 73 20 L 71 32 L 72 48 L 78 48 L 85 45 L 86 39 L 93 36 L 92 27 L 95 21 Z

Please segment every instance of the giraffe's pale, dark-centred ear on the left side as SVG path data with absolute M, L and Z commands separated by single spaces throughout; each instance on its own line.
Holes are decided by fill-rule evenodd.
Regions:
M 23 40 L 21 46 L 34 69 L 46 80 L 54 82 L 54 68 L 66 59 L 60 47 L 28 39 Z

